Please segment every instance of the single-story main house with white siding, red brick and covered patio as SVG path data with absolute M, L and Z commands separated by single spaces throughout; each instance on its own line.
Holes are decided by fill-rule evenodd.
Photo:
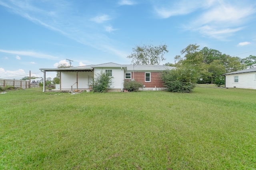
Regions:
M 173 68 L 164 65 L 105 63 L 68 68 L 40 68 L 40 70 L 44 72 L 44 80 L 46 72 L 60 72 L 60 90 L 90 89 L 94 78 L 104 72 L 112 78 L 112 84 L 110 84 L 108 91 L 121 92 L 124 90 L 125 80 L 141 82 L 144 85 L 141 90 L 162 90 L 164 86 L 160 79 L 160 73 Z

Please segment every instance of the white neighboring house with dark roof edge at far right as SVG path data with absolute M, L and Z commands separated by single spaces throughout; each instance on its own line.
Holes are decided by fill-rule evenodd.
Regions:
M 223 75 L 225 76 L 226 88 L 256 89 L 256 67 Z

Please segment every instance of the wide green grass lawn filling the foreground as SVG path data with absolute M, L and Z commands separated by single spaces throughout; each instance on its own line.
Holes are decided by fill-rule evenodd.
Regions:
M 256 169 L 255 96 L 0 94 L 0 169 Z

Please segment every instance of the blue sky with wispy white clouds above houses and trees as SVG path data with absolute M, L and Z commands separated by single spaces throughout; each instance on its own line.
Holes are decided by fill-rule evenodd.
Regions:
M 59 64 L 131 64 L 137 45 L 190 44 L 256 55 L 255 0 L 0 0 L 0 78 L 42 77 Z M 56 77 L 56 72 L 46 72 Z

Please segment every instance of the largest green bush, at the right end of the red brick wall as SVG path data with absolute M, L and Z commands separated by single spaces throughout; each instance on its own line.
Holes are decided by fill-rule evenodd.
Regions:
M 166 70 L 161 74 L 161 80 L 169 92 L 190 93 L 196 86 L 196 74 L 186 68 Z

